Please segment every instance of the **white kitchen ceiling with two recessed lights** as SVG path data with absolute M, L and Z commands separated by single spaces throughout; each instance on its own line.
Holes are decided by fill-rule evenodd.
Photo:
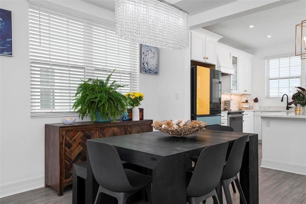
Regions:
M 295 25 L 306 19 L 306 0 L 204 27 L 223 36 L 218 42 L 240 50 L 295 43 Z M 248 28 L 248 25 L 254 25 Z M 272 36 L 266 38 L 265 36 Z

